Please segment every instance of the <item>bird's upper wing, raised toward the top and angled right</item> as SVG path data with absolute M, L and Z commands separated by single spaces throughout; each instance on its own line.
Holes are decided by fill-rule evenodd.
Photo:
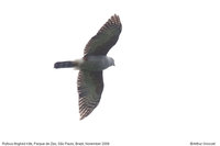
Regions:
M 122 25 L 119 15 L 112 15 L 88 42 L 84 50 L 84 56 L 107 55 L 109 49 L 117 43 L 121 30 Z

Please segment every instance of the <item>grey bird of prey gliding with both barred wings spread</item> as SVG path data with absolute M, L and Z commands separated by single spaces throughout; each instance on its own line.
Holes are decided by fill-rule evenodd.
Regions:
M 102 70 L 114 65 L 108 57 L 109 49 L 117 43 L 122 25 L 119 15 L 112 15 L 84 49 L 84 57 L 70 61 L 57 61 L 54 68 L 74 67 L 79 70 L 77 89 L 80 120 L 88 116 L 99 104 L 103 90 Z

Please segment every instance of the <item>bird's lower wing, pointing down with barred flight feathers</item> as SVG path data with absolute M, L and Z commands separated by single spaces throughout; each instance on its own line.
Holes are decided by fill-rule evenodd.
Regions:
M 80 70 L 78 75 L 80 120 L 88 116 L 99 104 L 103 90 L 102 71 Z

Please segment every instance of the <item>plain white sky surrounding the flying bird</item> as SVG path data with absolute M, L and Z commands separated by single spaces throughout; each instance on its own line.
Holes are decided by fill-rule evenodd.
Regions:
M 109 142 L 110 146 L 220 145 L 217 0 L 0 1 L 0 143 Z M 79 121 L 77 75 L 54 63 L 82 57 L 119 14 L 99 105 Z

